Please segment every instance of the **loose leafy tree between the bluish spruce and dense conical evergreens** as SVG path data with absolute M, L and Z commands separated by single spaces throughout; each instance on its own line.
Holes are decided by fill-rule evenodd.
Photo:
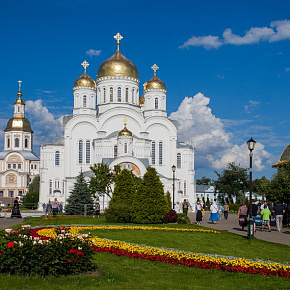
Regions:
M 95 174 L 90 180 L 91 193 L 94 196 L 106 194 L 111 198 L 112 185 L 121 171 L 120 166 L 115 166 L 114 171 L 112 171 L 107 164 L 98 163 L 91 166 L 90 169 Z

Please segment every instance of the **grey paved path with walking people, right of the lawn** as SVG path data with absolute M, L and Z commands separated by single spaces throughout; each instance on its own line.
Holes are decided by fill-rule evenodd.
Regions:
M 195 214 L 189 213 L 188 214 L 192 223 L 196 223 L 195 221 Z M 216 224 L 212 224 L 209 221 L 210 212 L 206 212 L 201 222 L 201 226 L 231 232 L 241 236 L 247 236 L 247 230 L 245 229 L 242 231 L 242 227 L 239 226 L 238 215 L 237 214 L 229 214 L 229 218 L 225 220 L 223 217 L 219 220 Z M 272 231 L 268 232 L 264 229 L 261 231 L 261 226 L 257 226 L 257 232 L 255 233 L 255 238 L 272 242 L 272 243 L 279 243 L 290 246 L 290 229 L 283 228 L 281 232 L 278 232 L 275 227 L 271 227 Z

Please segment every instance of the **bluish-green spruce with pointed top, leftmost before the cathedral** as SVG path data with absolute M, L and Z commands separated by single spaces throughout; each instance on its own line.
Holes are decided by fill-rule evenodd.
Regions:
M 74 183 L 65 206 L 65 213 L 68 215 L 93 214 L 93 198 L 84 173 L 81 171 Z

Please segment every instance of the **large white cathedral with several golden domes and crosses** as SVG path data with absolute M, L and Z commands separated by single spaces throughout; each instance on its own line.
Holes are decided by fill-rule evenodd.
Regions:
M 194 150 L 178 142 L 177 124 L 167 117 L 166 86 L 156 76 L 144 86 L 139 97 L 139 72 L 133 62 L 117 51 L 104 61 L 96 81 L 88 76 L 89 65 L 82 63 L 84 74 L 74 83 L 72 116 L 63 119 L 64 136 L 55 143 L 40 146 L 40 199 L 43 203 L 57 198 L 65 205 L 76 176 L 81 171 L 90 176 L 90 166 L 119 165 L 143 177 L 148 166 L 155 167 L 164 191 L 174 201 L 187 199 L 195 205 Z M 172 198 L 172 196 L 171 196 Z M 104 201 L 106 207 L 109 200 Z M 103 204 L 101 204 L 101 207 Z

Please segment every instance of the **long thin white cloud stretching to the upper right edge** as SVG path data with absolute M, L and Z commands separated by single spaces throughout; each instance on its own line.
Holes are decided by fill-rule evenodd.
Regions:
M 179 48 L 203 46 L 205 49 L 218 49 L 225 44 L 246 45 L 261 41 L 275 42 L 285 39 L 290 39 L 290 21 L 287 19 L 272 21 L 270 28 L 251 27 L 243 36 L 234 34 L 231 28 L 224 30 L 222 37 L 212 35 L 192 36 Z

